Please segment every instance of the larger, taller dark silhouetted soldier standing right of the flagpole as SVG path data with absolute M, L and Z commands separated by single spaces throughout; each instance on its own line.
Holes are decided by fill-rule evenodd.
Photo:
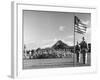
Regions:
M 80 43 L 80 49 L 81 49 L 81 53 L 83 55 L 83 64 L 85 64 L 86 52 L 87 52 L 87 43 L 85 42 L 84 37 L 82 38 L 82 42 Z

